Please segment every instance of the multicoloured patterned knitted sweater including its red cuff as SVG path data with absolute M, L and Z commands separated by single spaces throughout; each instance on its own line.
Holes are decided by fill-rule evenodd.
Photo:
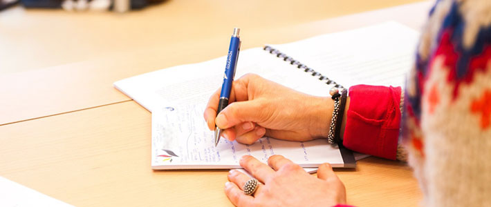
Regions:
M 436 2 L 403 94 L 350 88 L 344 146 L 396 159 L 401 122 L 422 206 L 491 206 L 491 0 Z

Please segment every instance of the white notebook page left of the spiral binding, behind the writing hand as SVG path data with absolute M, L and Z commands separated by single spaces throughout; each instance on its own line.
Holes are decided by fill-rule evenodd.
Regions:
M 225 58 L 148 72 L 117 81 L 114 86 L 150 111 L 169 103 L 206 103 L 223 82 Z M 322 81 L 262 48 L 241 51 L 235 79 L 246 73 L 261 75 L 307 94 L 328 95 L 328 86 Z

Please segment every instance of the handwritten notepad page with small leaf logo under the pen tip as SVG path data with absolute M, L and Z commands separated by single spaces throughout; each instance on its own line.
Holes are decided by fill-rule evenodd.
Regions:
M 344 166 L 340 150 L 326 139 L 297 142 L 263 137 L 251 145 L 220 139 L 215 147 L 213 131 L 203 119 L 204 109 L 204 104 L 178 105 L 152 112 L 152 168 L 241 168 L 239 159 L 243 155 L 252 155 L 264 163 L 271 155 L 283 155 L 303 167 L 325 162 Z

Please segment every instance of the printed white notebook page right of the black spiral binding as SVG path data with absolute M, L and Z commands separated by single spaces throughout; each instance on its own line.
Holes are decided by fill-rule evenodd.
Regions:
M 403 86 L 419 34 L 389 21 L 272 45 L 345 88 L 356 84 Z

